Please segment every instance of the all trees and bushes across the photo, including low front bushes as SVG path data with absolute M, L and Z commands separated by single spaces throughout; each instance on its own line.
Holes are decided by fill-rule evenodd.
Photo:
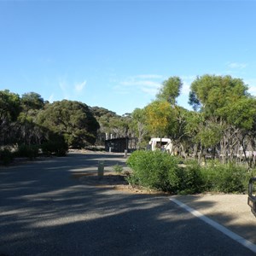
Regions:
M 190 84 L 188 110 L 177 105 L 182 86 L 178 77 L 166 79 L 145 108 L 122 116 L 83 102 L 51 103 L 36 92 L 0 90 L 0 163 L 136 137 L 131 183 L 171 193 L 241 193 L 255 175 L 255 97 L 241 79 L 206 74 Z M 151 137 L 170 138 L 172 152 L 139 150 Z

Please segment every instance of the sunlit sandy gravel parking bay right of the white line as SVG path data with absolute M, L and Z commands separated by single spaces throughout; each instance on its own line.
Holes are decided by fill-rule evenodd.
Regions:
M 256 218 L 247 205 L 247 195 L 176 195 L 175 198 L 256 244 Z

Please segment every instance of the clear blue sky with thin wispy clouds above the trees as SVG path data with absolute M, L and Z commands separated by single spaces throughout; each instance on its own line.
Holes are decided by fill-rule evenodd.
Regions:
M 239 78 L 256 96 L 256 0 L 0 0 L 0 90 L 144 108 L 161 84 Z

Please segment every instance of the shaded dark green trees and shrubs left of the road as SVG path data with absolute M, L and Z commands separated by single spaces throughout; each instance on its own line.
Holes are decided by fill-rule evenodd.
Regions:
M 35 92 L 20 97 L 0 91 L 0 161 L 5 165 L 15 157 L 66 155 L 68 148 L 95 143 L 98 128 L 84 103 L 49 103 Z

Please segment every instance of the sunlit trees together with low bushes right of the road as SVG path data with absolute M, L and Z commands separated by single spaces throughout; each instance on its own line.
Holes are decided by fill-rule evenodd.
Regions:
M 190 86 L 189 104 L 177 106 L 177 77 L 162 84 L 141 111 L 151 137 L 172 139 L 172 152 L 137 151 L 128 181 L 173 194 L 244 193 L 256 175 L 256 99 L 241 79 L 204 75 Z

